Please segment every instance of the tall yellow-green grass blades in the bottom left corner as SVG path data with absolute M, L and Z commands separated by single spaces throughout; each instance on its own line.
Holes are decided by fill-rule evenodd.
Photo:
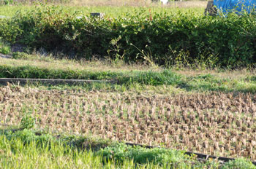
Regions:
M 37 146 L 36 142 L 24 145 L 20 139 L 7 140 L 0 135 L 1 168 L 103 168 L 102 157 L 94 152 L 78 152 L 68 146 L 48 144 Z M 124 162 L 121 168 L 134 166 Z M 105 168 L 118 168 L 113 162 L 107 162 Z

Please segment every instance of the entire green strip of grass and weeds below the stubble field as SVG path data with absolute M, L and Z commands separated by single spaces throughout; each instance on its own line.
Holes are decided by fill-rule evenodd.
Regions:
M 184 152 L 171 149 L 146 149 L 121 143 L 93 142 L 74 136 L 58 135 L 35 130 L 0 130 L 1 168 L 255 168 L 238 159 L 220 165 L 208 160 L 198 162 Z M 101 149 L 94 148 L 97 145 Z M 98 144 L 99 143 L 99 144 Z M 104 145 L 104 146 L 102 146 Z M 82 148 L 82 149 L 81 149 Z

